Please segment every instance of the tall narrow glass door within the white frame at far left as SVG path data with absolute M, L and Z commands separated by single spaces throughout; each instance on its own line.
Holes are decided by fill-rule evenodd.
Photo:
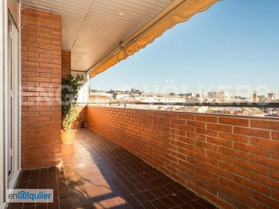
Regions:
M 8 21 L 8 69 L 6 72 L 6 160 L 8 188 L 20 171 L 20 36 L 13 18 Z

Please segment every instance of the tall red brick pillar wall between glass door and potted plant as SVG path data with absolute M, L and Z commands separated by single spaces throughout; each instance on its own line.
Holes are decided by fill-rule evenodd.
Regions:
M 22 169 L 61 162 L 61 15 L 22 7 Z

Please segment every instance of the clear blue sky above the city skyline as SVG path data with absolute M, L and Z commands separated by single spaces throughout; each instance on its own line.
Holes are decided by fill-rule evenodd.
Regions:
M 91 89 L 279 97 L 279 0 L 223 0 L 89 81 Z

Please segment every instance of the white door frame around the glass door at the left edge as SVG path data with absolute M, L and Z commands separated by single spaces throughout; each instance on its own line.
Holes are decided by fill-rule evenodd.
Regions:
M 20 68 L 20 31 L 13 29 L 13 32 L 9 32 L 9 12 L 8 1 L 1 0 L 0 2 L 0 209 L 6 207 L 6 191 L 8 188 L 13 188 L 20 174 L 20 137 L 21 137 L 21 68 Z M 13 10 L 14 12 L 15 10 Z M 18 17 L 20 17 L 20 3 L 17 11 Z M 13 19 L 10 17 L 10 20 Z M 17 21 L 17 28 L 20 29 L 20 18 Z M 13 47 L 8 48 L 8 42 L 12 38 Z M 10 55 L 9 52 L 13 52 L 11 61 L 13 62 L 12 68 L 9 69 Z M 13 72 L 12 82 L 10 82 L 10 71 Z M 13 105 L 8 107 L 10 103 L 10 85 L 13 85 Z M 13 111 L 13 117 L 10 118 L 10 112 Z M 12 126 L 9 124 L 9 119 Z M 13 127 L 13 130 L 11 130 Z M 10 147 L 9 134 L 13 133 L 13 173 L 8 173 L 8 159 L 10 159 Z

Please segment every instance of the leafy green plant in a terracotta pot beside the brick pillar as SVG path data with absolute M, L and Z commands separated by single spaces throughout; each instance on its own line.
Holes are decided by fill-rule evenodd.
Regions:
M 63 130 L 61 130 L 61 142 L 62 144 L 72 144 L 75 139 L 75 132 L 77 130 L 71 129 L 72 123 L 79 116 L 77 111 L 77 97 L 78 91 L 82 87 L 82 82 L 84 80 L 82 75 L 67 75 L 62 78 L 61 84 L 61 116 Z

